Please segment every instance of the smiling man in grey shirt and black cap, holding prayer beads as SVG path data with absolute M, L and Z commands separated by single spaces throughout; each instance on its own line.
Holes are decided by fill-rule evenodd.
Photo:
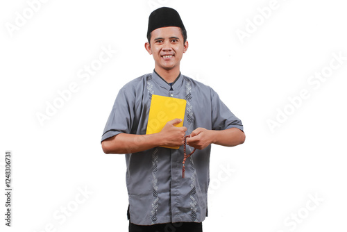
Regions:
M 147 38 L 154 71 L 119 90 L 102 148 L 105 154 L 126 154 L 129 231 L 202 231 L 208 215 L 211 144 L 242 144 L 242 122 L 212 88 L 180 73 L 188 42 L 176 10 L 154 10 Z M 146 135 L 152 94 L 187 100 L 183 126 L 175 126 L 183 119 L 173 119 L 159 133 Z M 185 161 L 183 178 L 185 135 L 190 135 L 187 153 L 196 151 Z

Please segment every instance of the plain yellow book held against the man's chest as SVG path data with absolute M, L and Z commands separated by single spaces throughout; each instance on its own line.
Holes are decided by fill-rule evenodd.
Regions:
M 183 126 L 186 104 L 187 101 L 185 99 L 153 94 L 151 108 L 149 108 L 149 122 L 147 124 L 146 135 L 160 132 L 167 122 L 176 118 L 182 119 L 182 122 L 177 124 L 176 127 Z M 180 147 L 167 148 L 178 149 Z

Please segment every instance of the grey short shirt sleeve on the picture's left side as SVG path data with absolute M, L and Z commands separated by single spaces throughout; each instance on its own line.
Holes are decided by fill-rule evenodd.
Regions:
M 132 91 L 119 90 L 106 123 L 101 142 L 119 133 L 130 133 L 133 126 L 135 95 Z

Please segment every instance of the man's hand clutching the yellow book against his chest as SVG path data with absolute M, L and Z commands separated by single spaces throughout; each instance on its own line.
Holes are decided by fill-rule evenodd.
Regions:
M 187 127 L 176 127 L 177 124 L 182 122 L 182 119 L 173 119 L 162 128 L 158 134 L 160 135 L 160 143 L 163 146 L 176 147 L 181 146 L 185 142 L 185 131 Z

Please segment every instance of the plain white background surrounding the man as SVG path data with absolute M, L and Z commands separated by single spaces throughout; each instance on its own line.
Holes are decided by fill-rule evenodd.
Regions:
M 212 146 L 204 231 L 346 231 L 347 60 L 319 87 L 307 83 L 332 53 L 347 56 L 346 6 L 278 0 L 242 43 L 237 30 L 270 2 L 51 0 L 10 33 L 28 2 L 1 1 L 1 189 L 12 150 L 14 190 L 11 228 L 0 197 L 1 231 L 127 231 L 124 156 L 103 154 L 100 140 L 119 88 L 153 70 L 144 42 L 160 6 L 176 8 L 187 28 L 181 72 L 214 88 L 246 133 L 239 147 Z M 78 72 L 101 47 L 117 53 L 84 83 Z M 78 91 L 41 125 L 37 113 L 71 83 Z M 310 97 L 289 106 L 303 89 Z M 271 131 L 286 107 L 291 115 Z M 63 222 L 64 207 L 73 212 Z

